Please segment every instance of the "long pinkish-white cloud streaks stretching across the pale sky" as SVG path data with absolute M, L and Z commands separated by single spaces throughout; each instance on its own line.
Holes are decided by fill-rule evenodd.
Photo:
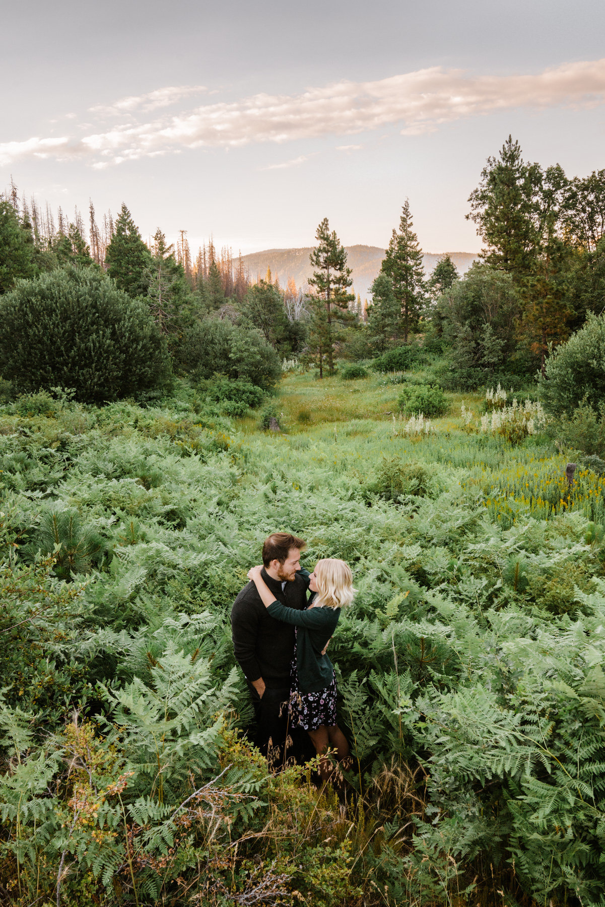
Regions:
M 605 59 L 563 63 L 525 75 L 476 76 L 433 66 L 375 82 L 339 82 L 300 94 L 255 94 L 234 102 L 209 103 L 149 122 L 135 116 L 203 90 L 200 85 L 167 87 L 93 108 L 103 116 L 122 118 L 128 113 L 130 120 L 116 120 L 109 129 L 98 128 L 79 141 L 7 142 L 0 146 L 2 162 L 41 153 L 44 143 L 48 152 L 53 141 L 61 145 L 55 150 L 57 156 L 83 156 L 93 166 L 103 167 L 167 151 L 347 136 L 387 126 L 397 126 L 404 135 L 418 135 L 433 132 L 444 122 L 515 107 L 590 107 L 605 99 Z M 298 162 L 286 161 L 274 169 Z

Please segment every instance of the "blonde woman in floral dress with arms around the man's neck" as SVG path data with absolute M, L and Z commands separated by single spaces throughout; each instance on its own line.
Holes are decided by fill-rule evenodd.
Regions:
M 337 627 L 340 609 L 350 605 L 356 590 L 353 575 L 336 558 L 317 561 L 308 577 L 308 588 L 315 592 L 306 610 L 287 608 L 275 600 L 260 575 L 261 568 L 249 571 L 259 596 L 272 618 L 294 624 L 297 646 L 292 661 L 292 688 L 289 711 L 294 726 L 304 727 L 318 756 L 329 746 L 343 762 L 349 755 L 346 737 L 337 726 L 337 684 L 332 662 L 326 655 L 327 643 Z M 303 571 L 304 575 L 304 571 Z M 322 781 L 330 778 L 327 758 L 319 763 Z

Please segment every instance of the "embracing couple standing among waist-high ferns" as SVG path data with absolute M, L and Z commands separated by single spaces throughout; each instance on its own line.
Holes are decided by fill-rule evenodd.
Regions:
M 231 610 L 233 647 L 254 704 L 256 743 L 274 764 L 290 756 L 317 756 L 329 746 L 339 761 L 349 747 L 337 726 L 337 686 L 327 657 L 340 610 L 355 595 L 345 561 L 317 561 L 312 573 L 300 566 L 306 542 L 288 532 L 265 540 L 262 567 L 249 571 L 249 584 Z M 320 762 L 323 780 L 330 776 Z

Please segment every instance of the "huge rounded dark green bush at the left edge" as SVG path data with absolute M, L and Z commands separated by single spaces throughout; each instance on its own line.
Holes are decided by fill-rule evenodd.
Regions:
M 0 372 L 23 391 L 61 385 L 102 404 L 167 384 L 171 367 L 144 303 L 100 271 L 65 268 L 0 298 Z

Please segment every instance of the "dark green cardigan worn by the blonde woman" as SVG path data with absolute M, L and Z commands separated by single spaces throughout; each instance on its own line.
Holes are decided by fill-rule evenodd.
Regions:
M 270 617 L 298 627 L 299 691 L 317 693 L 320 689 L 329 687 L 334 677 L 334 668 L 327 655 L 322 655 L 321 652 L 337 627 L 340 609 L 307 608 L 298 611 L 273 601 L 267 610 Z

